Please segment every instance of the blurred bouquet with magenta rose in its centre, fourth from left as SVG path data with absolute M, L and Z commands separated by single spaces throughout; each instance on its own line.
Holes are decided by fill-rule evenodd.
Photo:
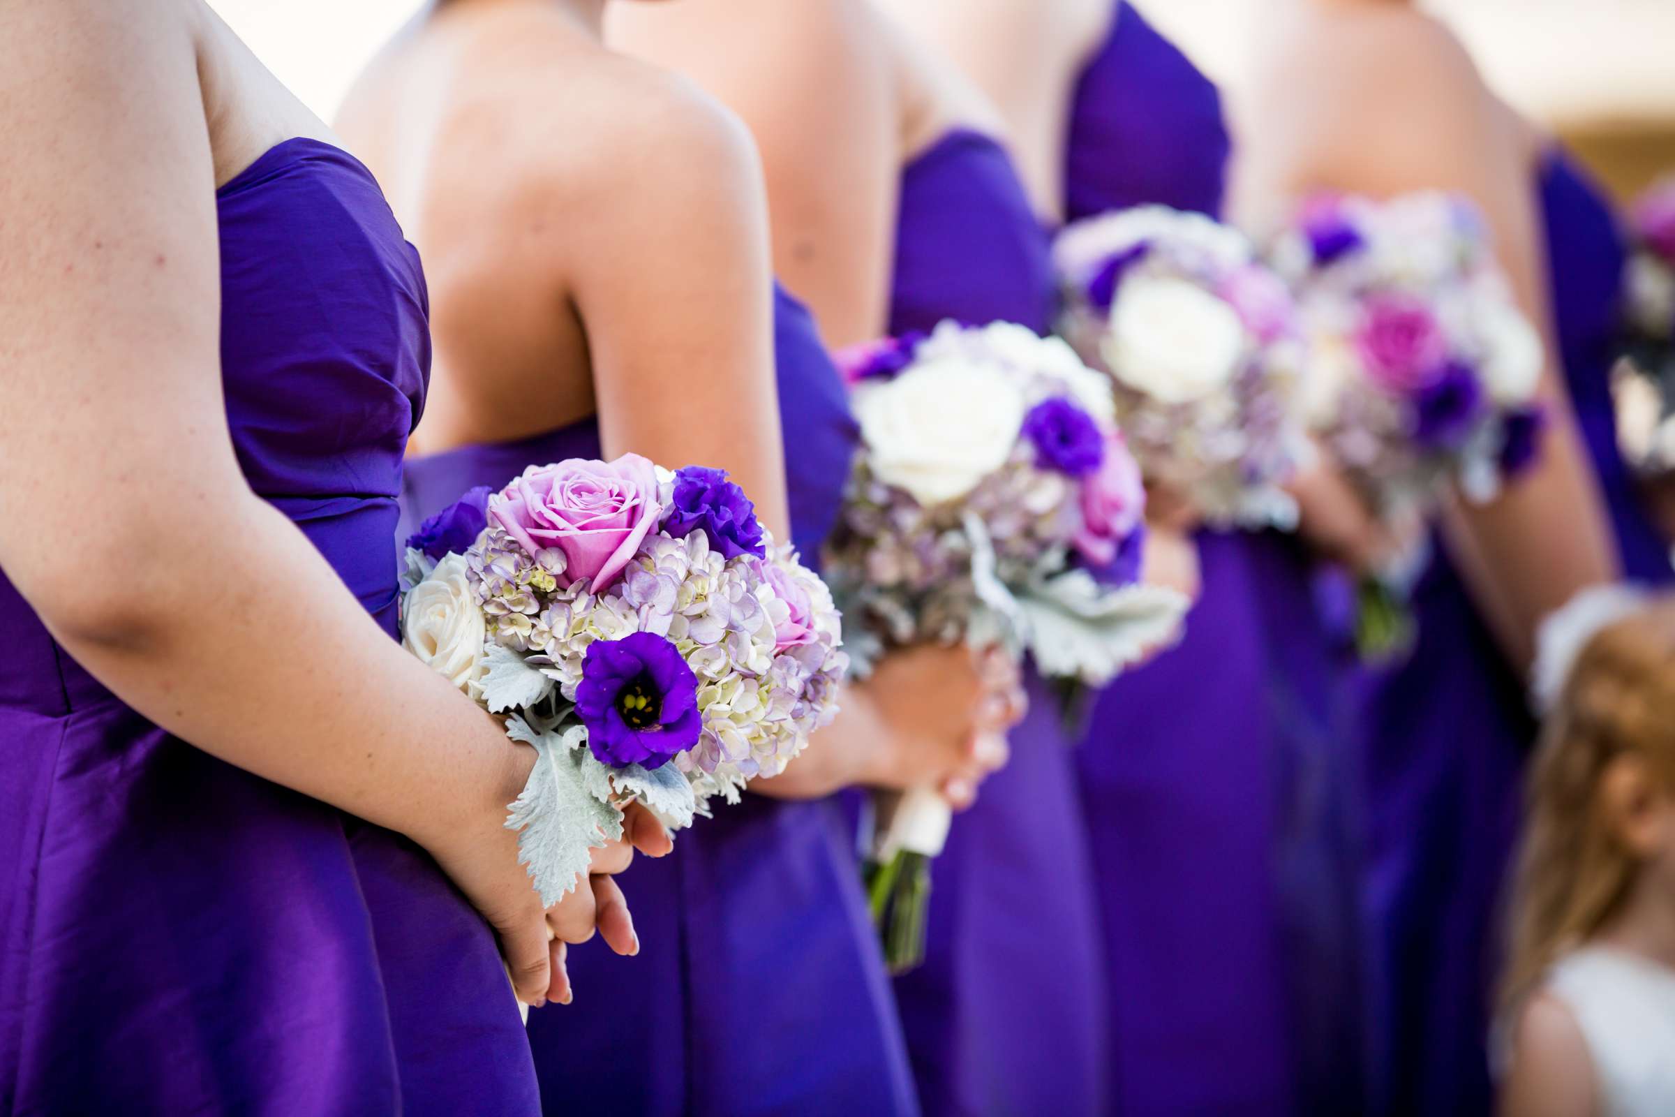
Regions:
M 1513 303 L 1464 199 L 1320 198 L 1275 241 L 1308 358 L 1305 415 L 1372 509 L 1427 516 L 1447 482 L 1489 501 L 1534 459 L 1543 343 Z M 1360 645 L 1409 641 L 1405 591 L 1424 553 L 1363 579 Z

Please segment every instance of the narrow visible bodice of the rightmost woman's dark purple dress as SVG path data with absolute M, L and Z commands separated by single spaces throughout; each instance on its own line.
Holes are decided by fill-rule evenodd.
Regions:
M 1553 327 L 1576 424 L 1605 491 L 1623 571 L 1668 581 L 1668 548 L 1636 504 L 1633 477 L 1616 444 L 1611 363 L 1621 303 L 1623 241 L 1600 188 L 1563 151 L 1541 162 Z

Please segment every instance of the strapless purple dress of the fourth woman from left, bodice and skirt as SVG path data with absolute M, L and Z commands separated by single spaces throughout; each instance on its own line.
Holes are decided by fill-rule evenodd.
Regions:
M 1216 214 L 1214 85 L 1117 5 L 1072 102 L 1065 216 Z M 1107 687 L 1077 750 L 1102 901 L 1114 1112 L 1357 1112 L 1353 703 L 1305 548 L 1203 531 L 1184 641 Z

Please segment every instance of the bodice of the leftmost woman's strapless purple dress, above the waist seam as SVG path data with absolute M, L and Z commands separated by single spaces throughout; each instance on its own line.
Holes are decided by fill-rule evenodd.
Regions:
M 216 193 L 221 390 L 238 464 L 395 631 L 395 501 L 430 363 L 419 255 L 372 174 L 291 139 Z M 109 697 L 0 574 L 0 707 Z M 60 685 L 62 683 L 62 685 Z

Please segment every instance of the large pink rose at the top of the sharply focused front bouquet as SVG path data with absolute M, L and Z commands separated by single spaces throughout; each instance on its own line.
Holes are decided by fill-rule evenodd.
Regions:
M 657 469 L 638 454 L 615 462 L 571 457 L 526 469 L 489 497 L 489 519 L 529 554 L 563 551 L 559 586 L 588 581 L 588 589 L 600 593 L 657 528 L 663 511 L 657 489 Z

